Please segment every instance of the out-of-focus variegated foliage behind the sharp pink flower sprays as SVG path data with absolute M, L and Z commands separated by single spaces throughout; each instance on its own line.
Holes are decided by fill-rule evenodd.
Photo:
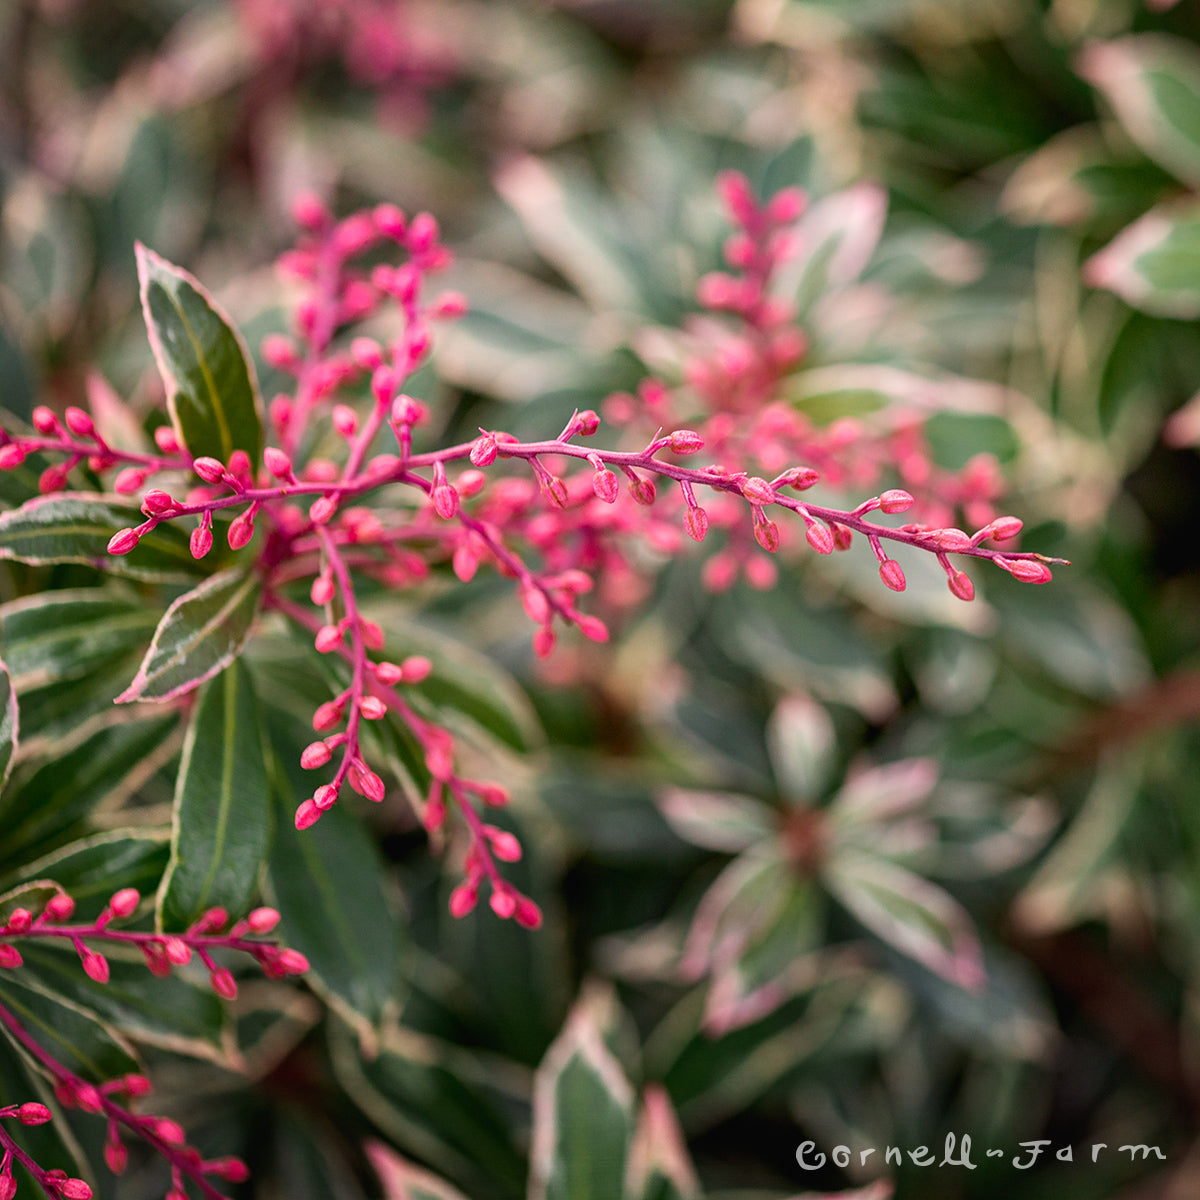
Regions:
M 355 42 L 368 7 L 0 6 L 10 413 L 79 403 L 98 368 L 152 420 L 134 240 L 203 278 L 252 347 L 281 328 L 271 260 L 292 196 L 317 187 L 341 211 L 428 209 L 456 247 L 472 311 L 414 386 L 442 432 L 552 433 L 678 378 L 727 233 L 713 180 L 736 168 L 762 194 L 834 197 L 841 221 L 841 257 L 799 289 L 810 349 L 787 398 L 829 424 L 923 380 L 938 464 L 994 455 L 1022 548 L 1073 566 L 1038 589 L 990 572 L 959 605 L 917 563 L 908 592 L 884 590 L 858 552 L 712 594 L 697 553 L 642 547 L 634 590 L 610 596 L 613 644 L 545 665 L 494 578 L 438 571 L 380 596 L 391 636 L 440 648 L 462 682 L 442 701 L 518 781 L 516 882 L 546 926 L 451 920 L 412 817 L 389 809 L 364 835 L 331 814 L 305 836 L 366 864 L 355 937 L 394 949 L 402 986 L 386 964 L 316 1001 L 264 985 L 236 1014 L 248 1076 L 149 1038 L 173 1111 L 250 1160 L 246 1194 L 378 1195 L 398 1152 L 509 1200 L 533 1072 L 582 992 L 581 1045 L 599 1034 L 635 1090 L 665 1087 L 706 1194 L 865 1187 L 884 1146 L 952 1132 L 978 1170 L 906 1160 L 886 1172 L 895 1195 L 1196 1194 L 1195 6 L 410 0 L 378 8 L 390 58 Z M 0 476 L 7 503 L 28 486 Z M 52 586 L 89 582 L 55 570 Z M 5 564 L 0 587 L 12 601 L 31 584 Z M 130 653 L 100 655 L 89 685 L 124 678 Z M 295 742 L 302 665 L 271 637 L 250 662 L 262 691 L 299 695 L 272 716 Z M 78 744 L 100 707 L 30 701 L 29 730 Z M 161 821 L 169 725 L 137 745 L 104 731 L 103 778 L 18 835 L 19 797 L 36 808 L 47 785 L 36 760 L 19 769 L 7 883 L 131 811 Z M 127 878 L 152 878 L 162 850 L 131 851 Z M 962 938 L 986 986 L 946 966 Z M 880 1156 L 808 1172 L 805 1138 Z M 1015 1172 L 1031 1139 L 1081 1148 Z M 1094 1164 L 1093 1142 L 1110 1147 Z M 661 1194 L 689 1194 L 667 1175 Z M 390 1195 L 450 1194 L 400 1177 Z

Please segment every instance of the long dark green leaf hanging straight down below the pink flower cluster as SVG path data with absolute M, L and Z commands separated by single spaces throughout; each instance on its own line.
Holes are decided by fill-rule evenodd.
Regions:
M 161 926 L 186 929 L 212 907 L 241 916 L 258 888 L 270 822 L 258 706 L 250 673 L 234 662 L 205 685 L 187 730 Z

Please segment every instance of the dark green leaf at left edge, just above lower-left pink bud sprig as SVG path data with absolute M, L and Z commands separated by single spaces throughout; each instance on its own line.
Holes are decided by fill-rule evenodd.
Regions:
M 170 847 L 157 830 L 94 834 L 62 846 L 32 863 L 8 862 L 0 868 L 5 888 L 53 880 L 76 901 L 74 919 L 95 920 L 120 888 L 152 892 L 167 868 Z

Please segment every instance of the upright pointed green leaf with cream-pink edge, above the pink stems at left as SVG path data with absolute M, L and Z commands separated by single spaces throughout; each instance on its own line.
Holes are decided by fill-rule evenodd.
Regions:
M 140 244 L 137 256 L 142 308 L 175 433 L 193 457 L 228 463 L 244 450 L 257 467 L 260 402 L 240 335 L 187 271 Z

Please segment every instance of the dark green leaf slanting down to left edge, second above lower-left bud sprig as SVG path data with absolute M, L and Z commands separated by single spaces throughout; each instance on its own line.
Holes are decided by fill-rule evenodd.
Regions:
M 157 751 L 176 724 L 173 714 L 113 725 L 31 770 L 23 768 L 0 798 L 0 860 L 44 852 L 48 840 L 61 838 L 102 800 L 132 791 L 145 778 L 143 763 L 150 760 L 152 769 L 161 761 Z

